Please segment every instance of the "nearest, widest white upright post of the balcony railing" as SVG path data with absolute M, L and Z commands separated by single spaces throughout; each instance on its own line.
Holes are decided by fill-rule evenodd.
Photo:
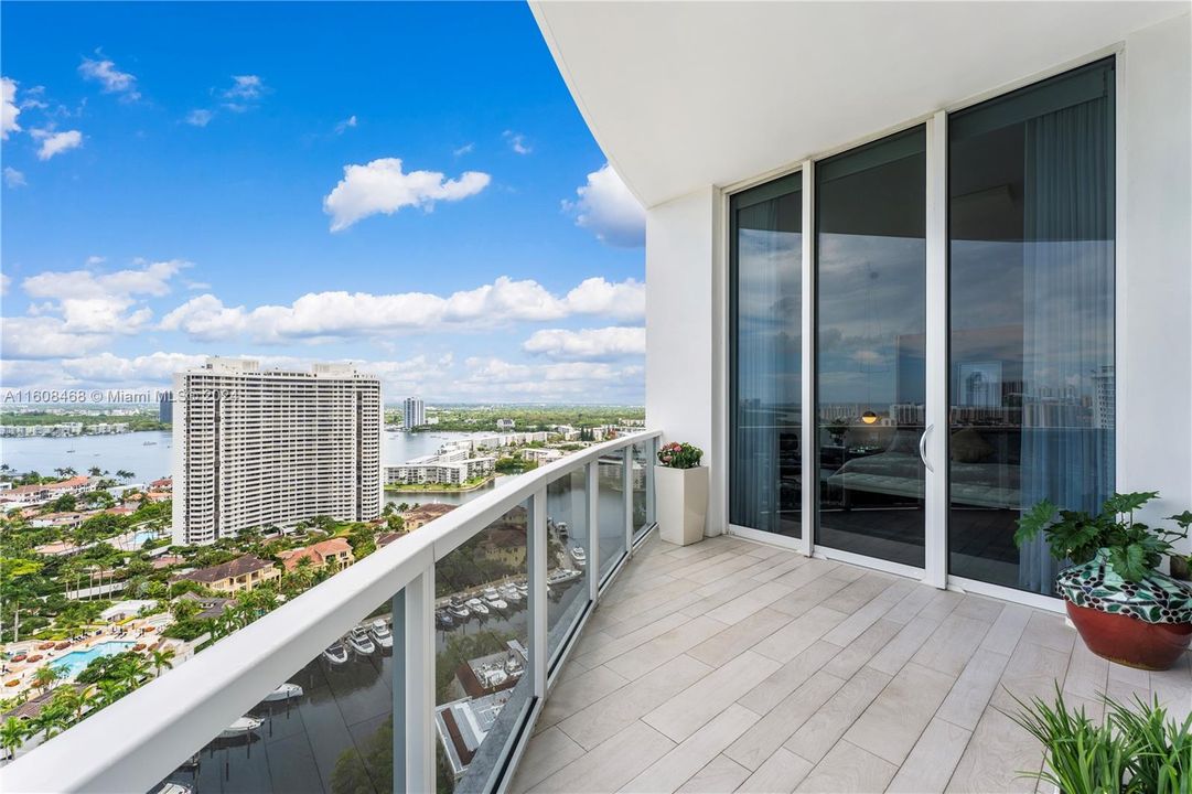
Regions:
M 405 790 L 435 789 L 435 569 L 405 587 Z M 397 784 L 395 777 L 393 784 Z

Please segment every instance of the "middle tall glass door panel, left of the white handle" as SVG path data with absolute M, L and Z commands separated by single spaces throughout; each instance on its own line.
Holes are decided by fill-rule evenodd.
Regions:
M 924 566 L 926 132 L 815 166 L 815 542 Z

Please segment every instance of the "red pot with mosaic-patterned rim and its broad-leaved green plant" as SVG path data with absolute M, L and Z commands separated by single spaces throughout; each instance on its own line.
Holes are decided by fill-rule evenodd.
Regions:
M 1167 519 L 1179 529 L 1135 521 L 1134 513 L 1157 496 L 1115 494 L 1097 515 L 1043 501 L 1014 533 L 1019 546 L 1043 533 L 1051 556 L 1073 563 L 1060 571 L 1056 590 L 1088 650 L 1144 670 L 1167 670 L 1192 640 L 1192 585 L 1159 571 L 1174 553 L 1172 541 L 1187 536 L 1192 513 Z

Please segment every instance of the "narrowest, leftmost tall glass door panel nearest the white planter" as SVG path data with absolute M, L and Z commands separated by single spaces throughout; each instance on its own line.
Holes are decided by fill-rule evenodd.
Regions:
M 730 204 L 728 521 L 801 536 L 802 178 Z

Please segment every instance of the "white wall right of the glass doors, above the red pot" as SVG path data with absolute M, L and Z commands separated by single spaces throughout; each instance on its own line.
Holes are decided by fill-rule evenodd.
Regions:
M 1118 490 L 1157 490 L 1150 517 L 1192 509 L 1190 54 L 1184 15 L 1126 38 L 1120 61 Z

